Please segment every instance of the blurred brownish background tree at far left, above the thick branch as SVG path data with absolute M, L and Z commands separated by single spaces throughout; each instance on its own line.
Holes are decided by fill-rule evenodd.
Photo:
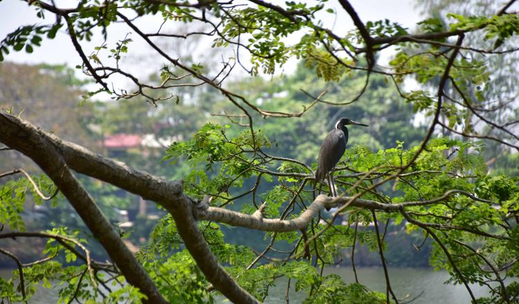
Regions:
M 59 133 L 66 140 L 74 140 L 89 149 L 89 132 L 84 126 L 91 118 L 89 106 L 78 108 L 84 84 L 74 77 L 74 70 L 66 66 L 28 66 L 3 63 L 0 66 L 0 107 L 14 115 L 23 115 L 42 128 Z M 22 82 L 21 79 L 24 79 Z M 31 84 L 31 86 L 26 86 Z M 63 108 L 66 115 L 57 112 Z M 0 164 L 2 171 L 23 165 L 26 159 L 20 153 L 6 151 Z

